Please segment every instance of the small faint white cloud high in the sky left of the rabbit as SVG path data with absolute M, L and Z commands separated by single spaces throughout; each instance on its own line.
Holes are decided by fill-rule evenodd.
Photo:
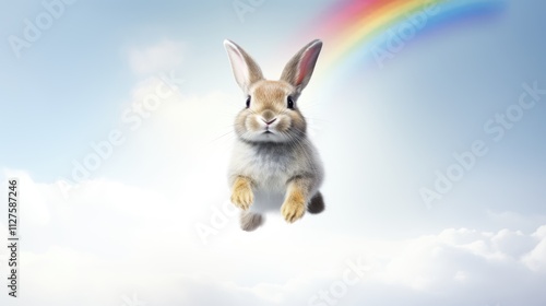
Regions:
M 129 64 L 139 74 L 169 71 L 183 61 L 183 44 L 163 40 L 155 46 L 133 48 L 129 51 Z

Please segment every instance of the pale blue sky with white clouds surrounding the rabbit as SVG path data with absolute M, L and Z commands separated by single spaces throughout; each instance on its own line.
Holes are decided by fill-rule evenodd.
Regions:
M 495 141 L 497 114 L 518 110 L 523 84 L 546 90 L 546 4 L 507 1 L 407 42 L 384 66 L 347 60 L 327 72 L 333 48 L 309 25 L 334 2 L 256 1 L 240 20 L 233 1 L 79 0 L 19 58 L 10 37 L 47 10 L 4 4 L 0 177 L 23 181 L 28 283 L 19 304 L 0 294 L 2 305 L 131 306 L 135 295 L 152 306 L 314 305 L 360 259 L 368 272 L 339 305 L 546 303 L 546 95 Z M 226 215 L 203 239 L 197 228 L 229 198 L 229 132 L 244 106 L 225 38 L 271 79 L 324 39 L 300 107 L 324 162 L 327 211 L 294 225 L 273 214 L 250 235 Z M 158 86 L 169 96 L 135 117 Z M 74 177 L 112 133 L 120 144 Z M 476 141 L 487 153 L 425 203 L 436 172 Z

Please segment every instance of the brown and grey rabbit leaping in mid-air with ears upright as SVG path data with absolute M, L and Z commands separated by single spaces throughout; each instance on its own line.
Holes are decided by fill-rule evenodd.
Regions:
M 278 81 L 265 80 L 260 67 L 237 44 L 224 40 L 235 80 L 245 93 L 245 108 L 235 119 L 236 141 L 228 168 L 232 202 L 241 209 L 240 227 L 262 225 L 263 213 L 281 210 L 286 222 L 306 211 L 320 213 L 324 169 L 306 133 L 298 98 L 322 48 L 312 40 L 286 64 Z

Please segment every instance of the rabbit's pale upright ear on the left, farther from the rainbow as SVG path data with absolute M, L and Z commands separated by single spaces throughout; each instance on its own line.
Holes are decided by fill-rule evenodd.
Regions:
M 224 40 L 235 80 L 239 87 L 248 93 L 251 84 L 263 79 L 262 71 L 258 63 L 237 44 L 232 40 Z

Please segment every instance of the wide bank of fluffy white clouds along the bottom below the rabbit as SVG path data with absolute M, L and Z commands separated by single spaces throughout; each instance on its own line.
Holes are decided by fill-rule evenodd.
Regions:
M 251 234 L 229 223 L 204 246 L 193 225 L 211 214 L 216 196 L 199 202 L 203 190 L 177 193 L 95 179 L 64 200 L 57 186 L 16 174 L 27 177 L 25 192 L 43 199 L 40 211 L 49 214 L 47 223 L 24 224 L 20 305 L 119 306 L 133 293 L 154 306 L 307 305 L 341 284 L 347 260 L 367 269 L 337 305 L 546 302 L 546 225 L 532 234 L 448 228 L 377 240 L 272 216 Z M 0 252 L 5 259 L 5 249 Z

